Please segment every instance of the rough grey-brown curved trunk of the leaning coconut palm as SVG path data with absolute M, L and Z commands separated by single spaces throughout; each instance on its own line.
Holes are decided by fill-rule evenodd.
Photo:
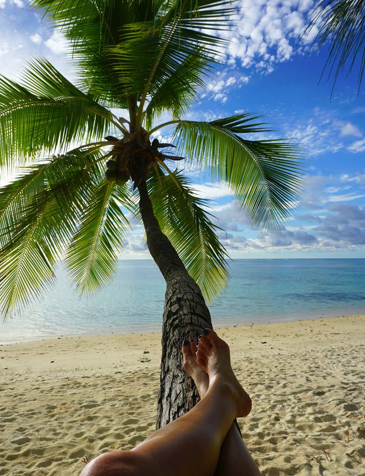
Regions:
M 156 427 L 160 428 L 190 410 L 198 401 L 191 378 L 182 366 L 183 339 L 197 339 L 212 327 L 199 286 L 187 273 L 178 253 L 160 229 L 153 213 L 146 182 L 138 186 L 147 246 L 166 281 L 162 327 L 160 394 Z

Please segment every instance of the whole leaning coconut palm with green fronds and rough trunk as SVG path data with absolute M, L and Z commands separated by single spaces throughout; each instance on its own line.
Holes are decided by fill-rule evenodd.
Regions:
M 249 114 L 182 119 L 223 51 L 217 31 L 230 25 L 229 1 L 33 5 L 68 38 L 80 79 L 71 84 L 42 58 L 30 62 L 21 83 L 0 79 L 1 166 L 18 168 L 0 192 L 1 311 L 11 316 L 41 297 L 58 259 L 81 295 L 110 281 L 131 213 L 167 286 L 162 426 L 196 402 L 181 341 L 212 325 L 204 297 L 217 296 L 229 277 L 206 201 L 168 164 L 184 160 L 225 181 L 252 221 L 267 225 L 289 216 L 301 163 L 286 141 L 252 140 L 249 134 L 267 129 Z M 169 120 L 156 124 L 162 114 Z M 174 127 L 171 144 L 156 138 L 167 126 Z

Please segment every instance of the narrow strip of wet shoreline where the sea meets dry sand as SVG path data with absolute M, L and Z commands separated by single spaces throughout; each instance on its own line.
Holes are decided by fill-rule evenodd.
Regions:
M 220 329 L 222 327 L 236 327 L 236 326 L 251 326 L 251 325 L 268 325 L 268 324 L 275 324 L 275 323 L 284 323 L 284 322 L 297 322 L 302 320 L 315 320 L 315 319 L 327 319 L 327 318 L 336 318 L 336 317 L 345 317 L 345 316 L 361 316 L 365 315 L 365 308 L 364 307 L 353 307 L 353 308 L 343 308 L 343 309 L 329 309 L 321 310 L 321 311 L 313 311 L 313 312 L 304 312 L 303 314 L 295 314 L 295 313 L 288 313 L 288 314 L 271 314 L 270 316 L 260 316 L 260 320 L 257 322 L 246 322 L 246 323 L 239 323 L 237 319 L 214 319 L 213 317 L 213 325 L 214 328 Z M 257 319 L 253 317 L 252 319 Z M 269 320 L 268 320 L 269 319 Z M 3 323 L 0 323 L 0 326 Z M 162 322 L 160 328 L 162 327 Z M 1 331 L 1 327 L 0 327 Z M 0 346 L 8 346 L 13 344 L 21 344 L 27 342 L 34 342 L 34 341 L 44 341 L 47 339 L 58 339 L 58 338 L 65 338 L 65 337 L 106 337 L 112 335 L 135 335 L 135 334 L 161 334 L 160 330 L 152 329 L 148 327 L 138 327 L 136 329 L 126 331 L 123 329 L 115 329 L 114 331 L 106 331 L 100 332 L 95 331 L 92 333 L 55 333 L 55 334 L 46 334 L 43 336 L 32 336 L 32 337 L 25 337 L 22 336 L 21 338 L 14 337 L 14 340 L 1 340 L 1 332 L 0 332 Z M 19 340 L 20 339 L 20 340 Z

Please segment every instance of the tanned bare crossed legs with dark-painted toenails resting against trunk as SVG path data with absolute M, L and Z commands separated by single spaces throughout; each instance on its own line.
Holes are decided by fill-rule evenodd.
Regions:
M 193 355 L 195 344 L 192 347 L 184 342 L 183 346 L 184 368 L 199 385 L 198 390 L 200 388 L 202 392 L 200 402 L 132 450 L 112 451 L 95 458 L 85 466 L 80 476 L 260 474 L 242 440 L 239 446 L 236 434 L 231 433 L 237 431 L 232 428 L 233 420 L 250 412 L 251 400 L 232 370 L 228 345 L 211 329 L 205 329 L 203 333 L 196 362 Z M 208 382 L 198 365 L 206 372 Z M 232 465 L 224 468 L 223 463 L 218 463 L 220 457 L 231 458 L 230 452 L 226 451 L 231 446 L 236 453 L 232 457 L 241 468 Z M 230 465 L 229 461 L 227 464 Z

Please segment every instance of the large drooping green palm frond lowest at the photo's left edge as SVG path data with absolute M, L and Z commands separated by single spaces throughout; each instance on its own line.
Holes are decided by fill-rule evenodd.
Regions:
M 0 190 L 0 312 L 11 316 L 39 298 L 78 223 L 79 207 L 100 178 L 86 154 L 32 167 Z

